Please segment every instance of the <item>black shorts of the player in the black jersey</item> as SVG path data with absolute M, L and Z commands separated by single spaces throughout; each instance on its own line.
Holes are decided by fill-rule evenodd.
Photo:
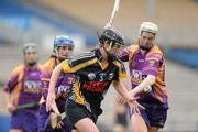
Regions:
M 90 112 L 85 106 L 78 105 L 69 99 L 66 103 L 66 116 L 70 129 L 74 129 L 75 123 L 84 118 L 90 118 L 95 123 L 98 119 L 98 114 Z

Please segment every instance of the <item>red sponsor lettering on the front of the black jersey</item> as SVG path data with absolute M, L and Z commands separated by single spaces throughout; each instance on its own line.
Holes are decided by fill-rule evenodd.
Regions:
M 108 88 L 109 81 L 89 81 L 84 82 L 82 88 L 92 92 L 103 92 Z

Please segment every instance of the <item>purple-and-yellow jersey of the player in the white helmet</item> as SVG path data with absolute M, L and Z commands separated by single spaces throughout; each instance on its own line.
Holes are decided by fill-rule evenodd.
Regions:
M 156 77 L 153 90 L 150 94 L 141 94 L 142 100 L 154 98 L 163 103 L 167 103 L 167 91 L 165 88 L 165 62 L 163 53 L 158 46 L 154 45 L 152 50 L 143 55 L 139 45 L 131 45 L 121 53 L 120 58 L 129 62 L 132 88 L 135 88 L 147 75 Z

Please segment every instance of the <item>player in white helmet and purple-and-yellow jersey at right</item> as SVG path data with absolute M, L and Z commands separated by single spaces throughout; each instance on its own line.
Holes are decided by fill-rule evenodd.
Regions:
M 141 114 L 130 110 L 133 132 L 158 132 L 167 117 L 168 95 L 165 85 L 165 59 L 155 44 L 157 25 L 143 22 L 140 26 L 139 44 L 133 44 L 119 54 L 129 62 L 132 96 L 139 96 L 138 102 L 145 109 Z

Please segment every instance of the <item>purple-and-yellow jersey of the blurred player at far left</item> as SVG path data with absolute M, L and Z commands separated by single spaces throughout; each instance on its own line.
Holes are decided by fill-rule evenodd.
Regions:
M 41 67 L 30 69 L 24 65 L 18 66 L 10 76 L 4 91 L 12 95 L 14 106 L 38 102 L 41 99 Z

